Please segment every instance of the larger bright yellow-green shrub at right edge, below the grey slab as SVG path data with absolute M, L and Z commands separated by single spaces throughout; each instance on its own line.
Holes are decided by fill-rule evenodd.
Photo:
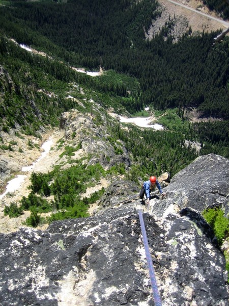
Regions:
M 219 244 L 222 244 L 229 232 L 229 219 L 224 217 L 224 212 L 219 208 L 205 210 L 203 216 L 211 225 Z

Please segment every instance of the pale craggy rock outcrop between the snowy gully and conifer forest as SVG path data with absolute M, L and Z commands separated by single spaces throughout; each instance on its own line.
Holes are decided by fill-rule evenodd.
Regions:
M 92 114 L 81 114 L 77 110 L 61 115 L 60 127 L 65 130 L 65 139 L 69 145 L 81 144 L 81 157 L 91 156 L 88 164 L 99 163 L 104 169 L 124 164 L 125 169 L 131 165 L 124 143 L 120 140 L 110 141 L 107 133 L 107 118 L 101 114 L 101 122 L 98 124 Z M 112 119 L 113 120 L 113 119 Z M 74 135 L 74 140 L 71 141 Z M 120 154 L 122 152 L 122 154 Z

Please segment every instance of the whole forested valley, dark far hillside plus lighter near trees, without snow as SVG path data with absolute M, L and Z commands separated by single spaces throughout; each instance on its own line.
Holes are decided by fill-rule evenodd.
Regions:
M 19 125 L 23 133 L 36 135 L 42 125 L 58 125 L 64 111 L 90 112 L 94 98 L 104 109 L 112 107 L 120 114 L 136 115 L 146 106 L 158 110 L 164 132 L 133 129 L 125 135 L 114 127 L 144 171 L 175 174 L 190 163 L 198 152 L 186 148 L 185 140 L 199 141 L 199 154 L 228 157 L 228 39 L 213 46 L 217 33 L 197 35 L 189 29 L 173 43 L 173 22 L 168 20 L 159 35 L 146 40 L 144 30 L 160 14 L 158 3 L 149 0 L 4 2 L 2 130 Z M 10 39 L 46 56 L 27 52 Z M 117 73 L 109 70 L 93 79 L 71 66 Z M 69 94 L 84 108 L 66 99 Z M 222 121 L 192 124 L 186 117 L 189 108 Z M 2 149 L 7 147 L 2 144 Z

